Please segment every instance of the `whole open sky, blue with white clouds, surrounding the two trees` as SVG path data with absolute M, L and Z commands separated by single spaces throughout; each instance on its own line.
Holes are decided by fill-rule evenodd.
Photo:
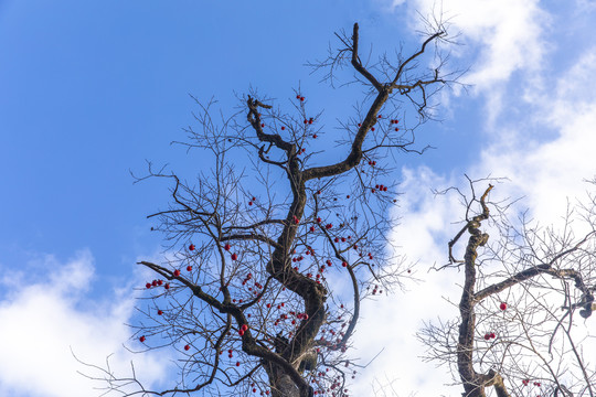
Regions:
M 168 193 L 159 182 L 134 185 L 129 170 L 142 174 L 146 159 L 189 176 L 205 167 L 170 146 L 193 124 L 189 94 L 214 96 L 231 115 L 235 93 L 255 87 L 287 106 L 300 85 L 331 129 L 336 118 L 353 116 L 359 90 L 330 89 L 305 63 L 324 57 L 333 32 L 356 21 L 374 53 L 414 47 L 416 11 L 432 7 L 427 0 L 0 1 L 0 313 L 9 320 L 0 322 L 0 354 L 14 363 L 0 364 L 0 394 L 65 396 L 60 387 L 67 382 L 72 396 L 92 395 L 73 372 L 68 346 L 97 363 L 110 353 L 123 366 L 130 358 L 121 348 L 130 331 L 121 324 L 143 280 L 135 262 L 159 258 L 160 236 L 149 232 L 146 215 L 163 207 Z M 406 192 L 395 238 L 419 259 L 422 273 L 445 258 L 451 230 L 441 226 L 457 221 L 456 204 L 438 204 L 429 189 L 462 185 L 464 172 L 509 176 L 502 195 L 526 195 L 523 204 L 547 223 L 595 174 L 595 3 L 445 0 L 443 7 L 464 44 L 453 49 L 453 66 L 470 67 L 464 82 L 471 86 L 443 92 L 443 122 L 417 135 L 421 147 L 437 149 L 401 155 L 393 175 Z M 433 282 L 444 281 L 428 277 L 409 286 L 412 293 L 371 307 L 355 341 L 362 352 L 372 348 L 368 340 L 382 337 L 374 319 L 395 299 L 405 310 L 396 318 L 417 319 L 402 341 L 425 316 L 435 318 L 434 302 L 423 313 L 407 310 L 407 299 L 423 299 Z M 450 293 L 449 286 L 441 292 Z M 55 316 L 41 321 L 49 312 Z M 386 377 L 402 382 L 402 395 L 443 390 L 448 377 L 428 382 L 419 375 L 427 367 L 416 373 L 387 358 L 392 348 L 417 354 L 408 342 L 392 343 L 358 387 L 370 390 L 383 382 L 375 376 L 385 377 L 379 368 L 395 364 Z M 33 354 L 63 365 L 32 385 Z M 135 360 L 159 378 L 158 356 Z

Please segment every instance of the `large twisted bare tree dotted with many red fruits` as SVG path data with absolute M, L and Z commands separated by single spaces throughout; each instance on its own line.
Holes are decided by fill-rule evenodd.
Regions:
M 140 309 L 147 320 L 134 325 L 147 350 L 178 351 L 180 379 L 149 390 L 135 374 L 104 369 L 108 391 L 349 396 L 359 364 L 347 354 L 360 302 L 407 277 L 387 249 L 396 202 L 387 155 L 424 151 L 414 130 L 433 117 L 438 89 L 457 78 L 443 71 L 444 25 L 434 28 L 411 55 L 372 65 L 361 60 L 358 24 L 338 34 L 339 50 L 315 67 L 328 71 L 331 85 L 339 69 L 353 68 L 366 105 L 339 121 L 334 151 L 328 137 L 338 133 L 300 90 L 290 112 L 252 93 L 238 114 L 219 121 L 214 103 L 198 101 L 200 129 L 189 127 L 179 143 L 213 168 L 187 182 L 149 167 L 146 178 L 172 181 L 170 206 L 150 215 L 160 219 L 169 257 L 140 262 L 156 279 Z M 243 161 L 249 167 L 237 171 Z

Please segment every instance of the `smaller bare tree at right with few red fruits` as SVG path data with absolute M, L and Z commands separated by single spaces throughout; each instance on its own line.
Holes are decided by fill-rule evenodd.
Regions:
M 467 397 L 491 388 L 499 397 L 594 396 L 596 367 L 584 356 L 587 334 L 577 322 L 596 309 L 596 197 L 568 208 L 561 232 L 531 227 L 525 215 L 520 229 L 507 217 L 509 205 L 489 202 L 493 185 L 476 195 L 482 181 L 469 180 L 471 197 L 455 189 L 466 207 L 464 227 L 448 244 L 449 262 L 437 270 L 464 267 L 460 316 L 419 333 L 427 358 L 449 365 Z M 493 244 L 483 223 L 498 234 Z M 458 260 L 453 248 L 466 232 Z

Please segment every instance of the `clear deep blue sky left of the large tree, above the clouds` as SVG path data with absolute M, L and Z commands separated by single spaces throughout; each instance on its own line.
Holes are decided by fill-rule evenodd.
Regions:
M 142 173 L 145 159 L 195 164 L 169 147 L 193 121 L 188 94 L 215 96 L 232 111 L 234 93 L 251 85 L 284 98 L 301 83 L 313 106 L 349 115 L 351 101 L 326 103 L 319 90 L 341 94 L 319 87 L 304 64 L 324 56 L 333 32 L 356 15 L 363 34 L 380 39 L 375 46 L 396 44 L 377 22 L 401 31 L 393 13 L 366 2 L 328 7 L 4 2 L 1 161 L 13 194 L 4 197 L 3 259 L 87 247 L 110 272 L 155 244 L 143 217 L 163 203 L 163 190 L 132 186 L 128 170 Z

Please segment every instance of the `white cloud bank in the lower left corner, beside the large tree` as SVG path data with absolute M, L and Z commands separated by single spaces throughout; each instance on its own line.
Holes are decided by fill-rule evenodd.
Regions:
M 99 375 L 77 363 L 71 348 L 81 360 L 97 365 L 114 353 L 110 364 L 116 374 L 128 375 L 134 360 L 145 379 L 163 377 L 163 361 L 152 354 L 131 355 L 121 346 L 130 337 L 125 323 L 135 305 L 131 286 L 113 291 L 110 299 L 91 297 L 94 260 L 88 251 L 65 264 L 47 256 L 34 268 L 43 265 L 46 270 L 35 281 L 28 282 L 30 269 L 1 281 L 8 293 L 0 301 L 0 395 L 98 395 L 93 388 L 106 385 L 77 374 Z

